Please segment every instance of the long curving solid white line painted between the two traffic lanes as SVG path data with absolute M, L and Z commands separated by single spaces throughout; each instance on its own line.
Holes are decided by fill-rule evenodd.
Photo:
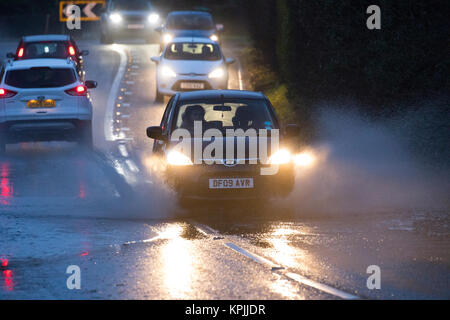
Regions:
M 120 82 L 125 74 L 125 69 L 127 65 L 127 56 L 125 50 L 120 45 L 112 45 L 111 49 L 119 54 L 120 63 L 119 69 L 117 70 L 116 76 L 114 78 L 111 90 L 109 91 L 107 109 L 105 114 L 105 138 L 106 141 L 114 141 L 116 139 L 113 129 L 113 113 L 114 106 L 116 105 L 116 97 L 119 92 Z

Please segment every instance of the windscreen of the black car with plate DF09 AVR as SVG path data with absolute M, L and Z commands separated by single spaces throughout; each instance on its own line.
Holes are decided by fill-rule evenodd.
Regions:
M 183 128 L 191 132 L 194 121 L 202 121 L 203 132 L 214 128 L 224 134 L 226 129 L 246 131 L 253 128 L 258 131 L 277 128 L 277 122 L 263 99 L 181 102 L 177 107 L 175 119 L 174 129 Z

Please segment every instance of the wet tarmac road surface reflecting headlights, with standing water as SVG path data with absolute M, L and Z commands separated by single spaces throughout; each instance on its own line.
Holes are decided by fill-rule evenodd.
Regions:
M 15 45 L 1 43 L 0 56 Z M 306 210 L 296 193 L 268 206 L 177 208 L 152 173 L 145 136 L 164 108 L 154 103 L 158 47 L 79 46 L 90 50 L 86 79 L 99 83 L 95 152 L 24 143 L 0 158 L 0 299 L 450 298 L 441 204 L 328 211 L 337 200 L 326 195 Z M 238 71 L 232 88 L 243 86 Z M 81 290 L 66 286 L 70 265 Z M 366 285 L 372 265 L 380 290 Z

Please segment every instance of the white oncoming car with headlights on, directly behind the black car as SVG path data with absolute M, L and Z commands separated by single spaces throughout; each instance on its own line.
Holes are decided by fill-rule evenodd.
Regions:
M 161 55 L 152 57 L 156 71 L 156 100 L 177 92 L 228 89 L 228 66 L 218 43 L 209 38 L 175 38 Z

